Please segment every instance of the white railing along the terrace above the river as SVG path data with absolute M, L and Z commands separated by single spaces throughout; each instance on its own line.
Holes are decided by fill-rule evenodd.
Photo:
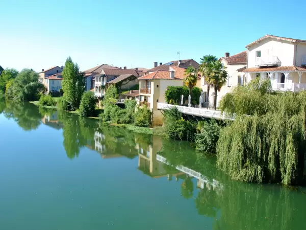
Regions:
M 157 103 L 158 109 L 170 109 L 172 107 L 176 107 L 182 113 L 199 116 L 199 117 L 214 118 L 218 120 L 235 120 L 236 118 L 235 114 L 232 115 L 232 114 L 228 114 L 228 113 L 221 112 L 218 110 L 210 110 L 210 109 L 205 109 L 205 108 L 194 108 L 194 107 L 187 107 L 187 106 L 180 106 L 180 105 L 170 105 L 170 104 L 160 103 L 160 102 Z

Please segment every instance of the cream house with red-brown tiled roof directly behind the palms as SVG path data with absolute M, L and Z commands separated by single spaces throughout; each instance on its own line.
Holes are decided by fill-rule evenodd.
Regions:
M 237 85 L 242 85 L 245 82 L 244 74 L 239 72 L 241 68 L 246 67 L 247 57 L 246 57 L 246 51 L 241 52 L 239 54 L 235 54 L 233 56 L 230 56 L 230 53 L 225 53 L 224 57 L 221 57 L 219 59 L 221 63 L 226 68 L 226 72 L 228 74 L 228 78 L 226 80 L 226 84 L 222 86 L 220 91 L 217 92 L 217 106 L 219 106 L 219 102 L 222 99 L 222 97 L 230 93 L 232 89 Z M 207 101 L 209 101 L 209 107 L 214 106 L 214 88 L 210 88 L 209 96 L 207 97 L 207 82 L 204 78 L 201 79 L 201 88 L 203 91 L 203 97 L 202 97 L 202 103 L 203 106 L 207 106 Z M 209 100 L 207 100 L 209 99 Z

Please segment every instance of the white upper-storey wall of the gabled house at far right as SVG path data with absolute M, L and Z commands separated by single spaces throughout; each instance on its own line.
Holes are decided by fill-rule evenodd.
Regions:
M 248 49 L 248 67 L 257 67 L 256 51 L 261 51 L 261 57 L 277 56 L 282 66 L 294 65 L 294 44 L 289 41 L 266 38 L 251 45 Z

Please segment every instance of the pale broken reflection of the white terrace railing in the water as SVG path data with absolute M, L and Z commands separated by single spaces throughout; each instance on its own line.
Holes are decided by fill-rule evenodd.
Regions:
M 159 161 L 159 162 L 162 162 L 166 165 L 170 165 L 167 161 L 167 159 L 159 154 L 156 155 L 156 159 Z M 214 189 L 223 189 L 223 185 L 221 185 L 221 183 L 215 179 L 208 179 L 206 176 L 202 175 L 201 173 L 199 172 L 196 172 L 192 169 L 189 169 L 183 165 L 181 166 L 176 166 L 175 169 L 177 170 L 180 170 L 181 172 L 183 173 L 186 173 L 187 175 L 189 176 L 193 176 L 194 178 L 196 179 L 199 179 L 201 181 L 202 184 L 206 184 L 206 185 L 209 185 L 209 186 L 212 186 Z

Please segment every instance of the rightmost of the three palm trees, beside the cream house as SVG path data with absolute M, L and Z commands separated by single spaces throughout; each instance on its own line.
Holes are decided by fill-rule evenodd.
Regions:
M 211 72 L 211 84 L 214 87 L 214 109 L 217 107 L 217 91 L 220 91 L 221 87 L 226 83 L 227 72 L 225 66 L 220 61 L 214 61 L 210 64 Z

